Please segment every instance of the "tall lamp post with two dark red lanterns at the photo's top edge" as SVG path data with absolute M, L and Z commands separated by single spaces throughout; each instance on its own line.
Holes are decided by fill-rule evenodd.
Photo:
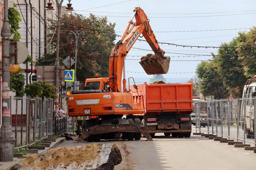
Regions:
M 68 7 L 70 9 L 70 11 L 72 12 L 74 9 L 71 7 L 72 4 L 70 4 L 69 0 L 69 4 Z M 55 87 L 56 87 L 56 93 L 59 96 L 59 69 L 60 69 L 60 65 L 59 65 L 59 32 L 60 32 L 60 20 L 61 20 L 61 5 L 63 3 L 63 0 L 56 0 L 56 4 L 57 4 L 57 43 L 56 43 L 56 59 L 55 59 L 55 65 L 54 65 L 54 72 L 55 72 Z M 46 10 L 52 10 L 52 3 L 47 3 L 48 6 L 45 7 Z

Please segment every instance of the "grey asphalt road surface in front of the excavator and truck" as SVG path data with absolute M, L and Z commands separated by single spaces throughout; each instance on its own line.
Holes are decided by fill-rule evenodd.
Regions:
M 145 141 L 145 138 L 140 141 L 100 141 L 104 142 L 115 143 L 121 150 L 122 163 L 115 166 L 115 170 L 256 169 L 253 151 L 201 136 L 172 138 L 159 134 L 154 141 Z M 58 147 L 88 144 L 65 141 Z

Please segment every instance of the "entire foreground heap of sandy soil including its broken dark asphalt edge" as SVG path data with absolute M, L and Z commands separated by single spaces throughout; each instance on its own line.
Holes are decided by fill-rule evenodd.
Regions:
M 112 169 L 121 161 L 120 150 L 115 144 L 91 144 L 54 148 L 43 154 L 28 156 L 11 170 L 93 170 L 105 166 Z

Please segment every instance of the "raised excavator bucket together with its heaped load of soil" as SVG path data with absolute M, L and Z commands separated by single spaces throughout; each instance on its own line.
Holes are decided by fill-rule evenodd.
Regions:
M 166 74 L 169 71 L 170 60 L 170 57 L 163 56 L 163 52 L 160 51 L 141 57 L 139 63 L 148 75 Z

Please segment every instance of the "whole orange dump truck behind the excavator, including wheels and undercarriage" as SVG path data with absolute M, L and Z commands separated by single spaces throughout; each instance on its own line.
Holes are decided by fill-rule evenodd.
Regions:
M 135 103 L 140 103 L 143 114 L 127 115 L 140 119 L 149 134 L 190 137 L 193 111 L 192 83 L 141 84 L 130 86 Z

